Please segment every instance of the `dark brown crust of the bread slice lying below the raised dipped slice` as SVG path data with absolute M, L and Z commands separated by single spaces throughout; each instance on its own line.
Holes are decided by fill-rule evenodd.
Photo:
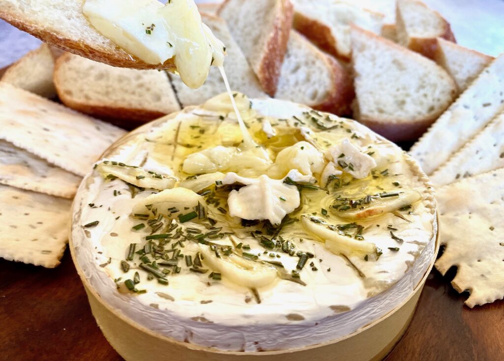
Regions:
M 62 90 L 62 80 L 60 79 L 59 75 L 60 71 L 58 71 L 62 64 L 70 60 L 71 56 L 67 53 L 60 56 L 56 60 L 54 65 L 54 85 L 56 87 L 56 93 L 59 97 L 59 100 L 67 107 L 81 113 L 91 115 L 93 117 L 107 119 L 111 123 L 116 125 L 119 124 L 120 127 L 126 129 L 136 128 L 139 125 L 166 115 L 166 113 L 155 110 L 125 108 L 104 104 L 92 104 L 90 102 L 81 103 L 79 101 L 76 101 L 74 98 L 68 96 Z

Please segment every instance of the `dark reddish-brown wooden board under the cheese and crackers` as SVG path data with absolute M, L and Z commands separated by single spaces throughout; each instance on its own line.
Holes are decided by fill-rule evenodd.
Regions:
M 388 361 L 504 359 L 504 301 L 471 310 L 449 281 L 432 271 Z M 68 250 L 54 269 L 0 259 L 0 360 L 121 359 L 91 315 Z

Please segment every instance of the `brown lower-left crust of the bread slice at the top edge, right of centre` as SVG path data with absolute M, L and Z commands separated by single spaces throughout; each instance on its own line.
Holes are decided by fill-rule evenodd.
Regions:
M 341 57 L 336 48 L 336 39 L 328 26 L 297 12 L 294 15 L 293 26 L 294 29 L 310 39 L 313 44 L 322 50 L 335 57 Z M 342 58 L 343 60 L 349 60 L 347 57 Z

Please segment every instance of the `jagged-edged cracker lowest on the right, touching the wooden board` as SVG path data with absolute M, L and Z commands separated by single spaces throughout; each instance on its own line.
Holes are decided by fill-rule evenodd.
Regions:
M 457 266 L 452 286 L 469 291 L 474 307 L 504 297 L 504 168 L 437 190 L 439 239 L 445 252 L 435 266 L 445 275 Z

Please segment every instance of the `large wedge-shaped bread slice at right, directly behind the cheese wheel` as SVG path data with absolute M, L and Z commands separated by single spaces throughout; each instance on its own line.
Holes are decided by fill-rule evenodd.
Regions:
M 352 26 L 354 116 L 393 141 L 418 138 L 452 103 L 456 85 L 420 54 Z

